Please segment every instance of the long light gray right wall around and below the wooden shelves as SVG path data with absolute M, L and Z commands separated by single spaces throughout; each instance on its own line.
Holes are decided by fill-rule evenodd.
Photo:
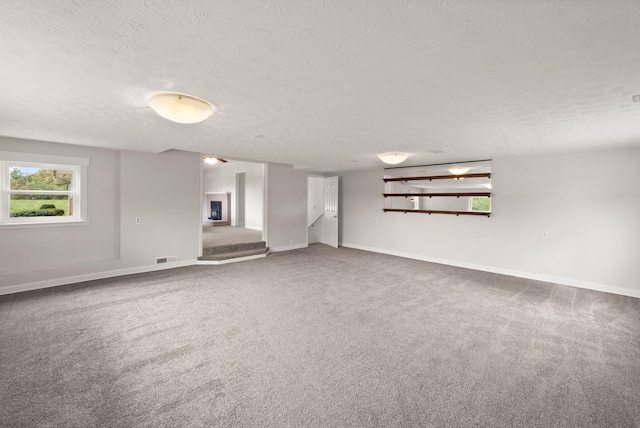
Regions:
M 343 173 L 341 244 L 640 297 L 638 165 L 640 149 L 494 159 L 490 218 L 384 213 L 382 168 Z

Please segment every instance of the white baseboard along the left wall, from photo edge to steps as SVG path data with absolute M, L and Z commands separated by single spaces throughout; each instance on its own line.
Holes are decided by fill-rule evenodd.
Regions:
M 109 270 L 102 272 L 93 272 L 83 275 L 67 276 L 63 278 L 49 279 L 45 281 L 36 281 L 25 284 L 9 285 L 6 287 L 0 287 L 0 295 L 20 293 L 22 291 L 39 290 L 41 288 L 57 287 L 59 285 L 75 284 L 78 282 L 93 281 L 96 279 L 112 278 L 123 275 L 133 275 L 136 273 L 153 272 L 157 270 L 173 269 L 183 266 L 193 266 L 196 264 L 196 260 L 184 260 L 170 263 L 162 263 L 157 265 L 136 266 L 131 268 Z

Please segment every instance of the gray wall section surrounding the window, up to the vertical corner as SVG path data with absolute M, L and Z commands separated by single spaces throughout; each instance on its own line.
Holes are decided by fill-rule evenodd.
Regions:
M 0 137 L 0 150 L 89 159 L 85 224 L 0 228 L 0 294 L 20 284 L 112 269 L 120 258 L 117 151 Z

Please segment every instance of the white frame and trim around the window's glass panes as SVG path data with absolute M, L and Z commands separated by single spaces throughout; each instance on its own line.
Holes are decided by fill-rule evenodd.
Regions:
M 11 167 L 16 166 L 71 170 L 73 171 L 72 185 L 68 191 L 11 190 Z M 0 152 L 0 227 L 86 223 L 88 167 L 89 159 L 85 158 Z M 12 194 L 68 195 L 70 199 L 73 199 L 73 214 L 70 216 L 11 217 L 9 206 Z

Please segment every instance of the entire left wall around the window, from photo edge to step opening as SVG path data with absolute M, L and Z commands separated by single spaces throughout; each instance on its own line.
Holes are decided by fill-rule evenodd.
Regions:
M 189 264 L 198 257 L 199 154 L 119 152 L 4 137 L 0 151 L 90 160 L 88 224 L 0 228 L 0 294 Z M 155 265 L 156 257 L 170 255 L 180 262 Z

